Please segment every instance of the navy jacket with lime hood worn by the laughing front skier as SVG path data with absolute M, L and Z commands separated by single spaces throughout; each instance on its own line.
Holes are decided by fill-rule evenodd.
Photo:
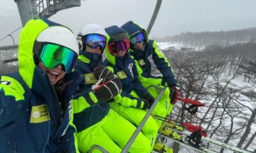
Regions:
M 65 75 L 58 98 L 46 72 L 36 66 L 33 46 L 49 20 L 29 20 L 19 37 L 19 71 L 0 76 L 0 152 L 76 152 L 72 94 L 82 78 Z M 59 102 L 66 109 L 61 115 Z M 61 119 L 62 118 L 62 119 Z

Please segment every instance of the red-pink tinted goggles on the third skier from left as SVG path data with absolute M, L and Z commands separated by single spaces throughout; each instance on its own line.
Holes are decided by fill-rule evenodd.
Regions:
M 116 54 L 120 51 L 127 52 L 129 47 L 130 47 L 129 39 L 124 39 L 121 41 L 116 41 L 108 44 L 108 50 L 113 54 Z

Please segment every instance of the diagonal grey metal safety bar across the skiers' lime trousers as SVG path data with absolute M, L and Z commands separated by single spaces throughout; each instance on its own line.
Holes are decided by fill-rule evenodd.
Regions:
M 152 106 L 149 108 L 149 110 L 148 110 L 147 114 L 145 115 L 145 117 L 143 118 L 143 120 L 141 120 L 140 125 L 134 131 L 132 137 L 129 139 L 129 141 L 125 145 L 124 149 L 122 150 L 122 153 L 127 153 L 128 152 L 128 150 L 131 147 L 132 143 L 134 142 L 135 138 L 138 136 L 138 134 L 140 133 L 141 129 L 143 128 L 145 122 L 148 120 L 148 117 L 150 117 L 151 113 L 153 112 L 154 108 L 156 107 L 156 105 L 157 105 L 159 99 L 161 98 L 161 96 L 163 95 L 165 89 L 166 89 L 166 87 L 164 87 L 161 90 L 161 92 L 158 94 L 157 99 L 154 101 Z

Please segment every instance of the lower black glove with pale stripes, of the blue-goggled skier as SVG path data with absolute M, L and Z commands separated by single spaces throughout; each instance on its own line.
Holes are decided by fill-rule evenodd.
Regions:
M 95 85 L 92 86 L 92 90 L 101 102 L 109 101 L 121 92 L 122 83 L 117 77 L 103 83 L 103 78 L 100 79 Z

